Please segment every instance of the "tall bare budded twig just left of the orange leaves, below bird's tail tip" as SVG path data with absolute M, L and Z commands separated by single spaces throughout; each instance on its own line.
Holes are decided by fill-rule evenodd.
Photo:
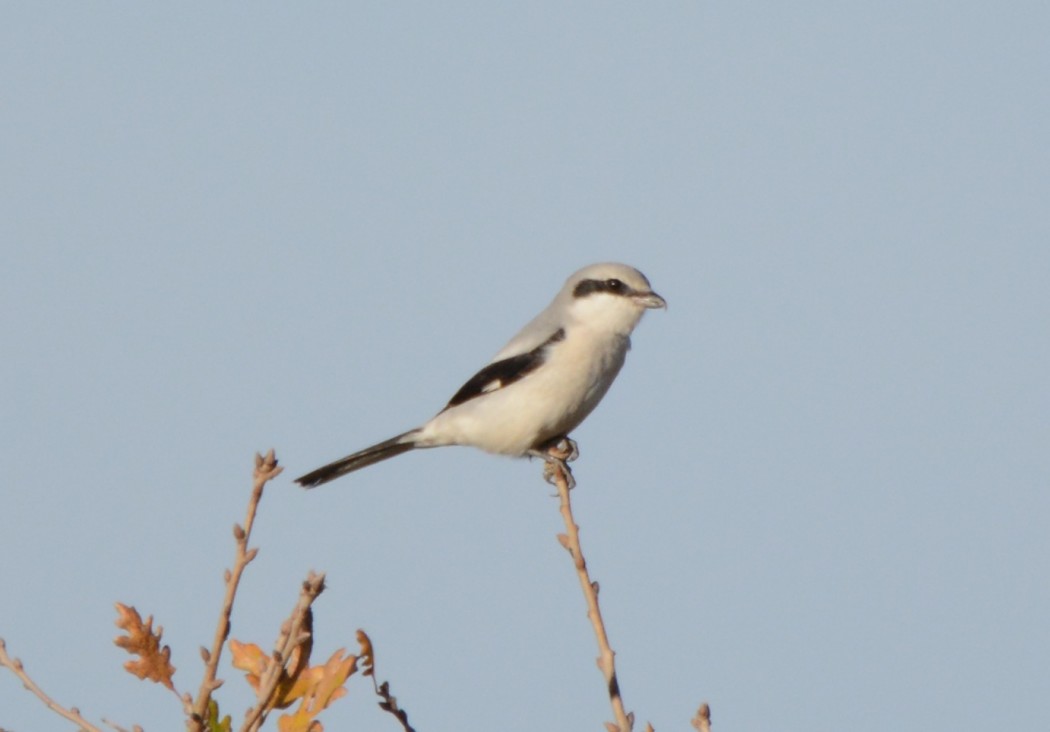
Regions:
M 233 600 L 237 594 L 237 586 L 240 584 L 240 576 L 248 564 L 255 559 L 258 549 L 249 549 L 248 541 L 251 538 L 252 525 L 255 523 L 255 511 L 259 501 L 262 499 L 262 488 L 266 484 L 280 475 L 282 467 L 277 465 L 277 458 L 271 449 L 266 456 L 255 454 L 255 472 L 253 475 L 254 484 L 252 486 L 252 497 L 248 501 L 248 516 L 245 518 L 244 526 L 233 527 L 233 537 L 237 542 L 236 559 L 233 569 L 226 571 L 226 597 L 223 599 L 223 610 L 218 615 L 218 625 L 215 628 L 215 636 L 212 640 L 211 649 L 204 652 L 205 673 L 197 690 L 196 700 L 190 710 L 190 718 L 187 726 L 192 732 L 202 732 L 205 729 L 205 719 L 208 717 L 208 703 L 211 700 L 211 693 L 217 689 L 222 682 L 216 681 L 218 662 L 223 655 L 223 646 L 230 635 L 230 615 L 233 612 Z

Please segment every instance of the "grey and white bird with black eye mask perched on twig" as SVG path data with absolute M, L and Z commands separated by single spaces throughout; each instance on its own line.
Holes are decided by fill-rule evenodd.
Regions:
M 569 433 L 609 391 L 632 331 L 655 308 L 666 309 L 667 301 L 633 267 L 584 267 L 429 421 L 295 482 L 312 488 L 413 449 L 445 445 L 549 463 L 559 459 L 550 457 L 550 448 L 565 440 L 575 457 Z

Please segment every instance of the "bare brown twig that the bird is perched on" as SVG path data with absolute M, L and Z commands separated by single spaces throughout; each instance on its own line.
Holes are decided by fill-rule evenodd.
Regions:
M 569 501 L 569 490 L 570 482 L 574 484 L 575 481 L 572 480 L 572 474 L 565 463 L 568 455 L 565 451 L 558 451 L 556 447 L 551 448 L 551 455 L 555 458 L 555 461 L 549 462 L 548 465 L 551 466 L 550 474 L 554 485 L 558 486 L 558 495 L 561 498 L 562 518 L 565 520 L 566 530 L 565 534 L 559 535 L 558 540 L 572 555 L 576 576 L 580 578 L 580 587 L 583 589 L 584 598 L 587 600 L 587 618 L 590 619 L 591 625 L 594 626 L 594 637 L 597 640 L 597 667 L 605 676 L 606 687 L 609 691 L 609 703 L 612 705 L 612 713 L 616 718 L 615 725 L 607 723 L 606 728 L 610 732 L 630 732 L 634 726 L 634 715 L 624 710 L 624 699 L 620 695 L 620 683 L 616 681 L 615 653 L 613 653 L 612 648 L 609 646 L 609 636 L 606 635 L 605 623 L 602 621 L 602 610 L 597 604 L 597 583 L 591 581 L 590 574 L 587 571 L 587 562 L 584 560 L 584 552 L 580 546 L 580 527 L 576 526 L 575 520 L 572 518 L 572 504 Z

